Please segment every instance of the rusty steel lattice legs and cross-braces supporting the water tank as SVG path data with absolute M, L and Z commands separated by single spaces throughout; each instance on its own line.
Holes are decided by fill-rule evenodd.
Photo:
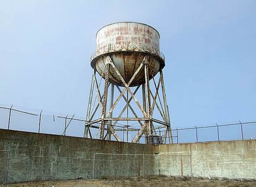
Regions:
M 142 62 L 139 63 L 137 70 L 134 71 L 132 78 L 126 82 L 121 73 L 119 73 L 119 70 L 117 70 L 117 67 L 113 63 L 110 55 L 107 56 L 104 63 L 105 69 L 104 72 L 100 74 L 100 78 L 97 77 L 96 70 L 93 70 L 84 137 L 111 140 L 111 136 L 113 136 L 116 141 L 121 141 L 121 138 L 119 137 L 120 135 L 117 135 L 117 132 L 123 131 L 124 133 L 124 131 L 126 131 L 128 141 L 128 133 L 136 132 L 132 135 L 131 142 L 138 143 L 143 135 L 145 135 L 145 137 L 156 135 L 157 129 L 165 129 L 163 134 L 163 143 L 166 142 L 167 137 L 169 139 L 169 143 L 172 143 L 171 122 L 169 117 L 169 109 L 166 102 L 163 71 L 159 71 L 158 81 L 155 80 L 156 77 L 150 76 L 148 73 L 148 55 L 145 55 Z M 123 89 L 121 89 L 120 86 L 111 84 L 109 82 L 110 67 L 113 68 L 114 72 L 124 85 Z M 141 71 L 144 71 L 145 84 L 135 87 L 134 91 L 132 91 L 130 84 Z M 102 87 L 101 82 L 103 78 L 105 82 L 104 86 Z M 155 89 L 155 93 L 153 93 L 154 90 L 151 89 L 150 82 L 151 86 L 153 85 L 153 88 Z M 115 100 L 114 90 L 119 93 Z M 141 102 L 135 96 L 139 90 L 142 92 Z M 102 92 L 103 94 L 101 94 Z M 93 100 L 94 97 L 95 99 Z M 119 112 L 119 115 L 114 117 L 113 111 L 120 102 L 121 98 L 123 98 L 125 106 L 123 106 L 121 112 Z M 134 101 L 135 105 L 138 106 L 137 109 L 135 109 L 135 106 L 131 104 L 131 101 Z M 109 109 L 107 104 L 109 104 Z M 160 119 L 156 119 L 154 116 L 154 112 L 156 110 L 158 111 L 158 116 L 160 116 Z M 127 116 L 122 117 L 125 111 L 127 111 Z M 134 117 L 131 117 L 131 115 L 128 114 L 128 111 L 130 111 L 130 114 L 132 114 Z M 97 116 L 97 114 L 100 114 L 101 116 Z M 142 114 L 142 117 L 139 117 L 139 114 Z M 122 121 L 127 122 L 127 125 L 121 124 L 121 126 L 119 122 Z M 137 121 L 139 125 L 138 128 L 129 126 L 129 122 L 134 121 Z M 96 129 L 96 135 L 93 135 L 92 129 Z

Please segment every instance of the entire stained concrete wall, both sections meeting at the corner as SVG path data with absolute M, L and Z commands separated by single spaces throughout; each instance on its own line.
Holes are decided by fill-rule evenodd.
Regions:
M 0 150 L 10 150 L 10 183 L 92 178 L 93 153 L 151 154 L 146 175 L 190 176 L 192 169 L 194 177 L 256 179 L 256 140 L 153 147 L 0 129 Z M 143 156 L 96 154 L 95 160 L 95 178 L 143 176 Z M 0 183 L 6 164 L 0 151 Z

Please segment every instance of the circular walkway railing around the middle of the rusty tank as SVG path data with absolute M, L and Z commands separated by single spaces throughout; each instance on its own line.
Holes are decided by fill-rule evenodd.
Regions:
M 158 55 L 158 57 L 160 57 L 163 61 L 165 60 L 163 53 L 161 53 L 159 49 L 156 49 L 156 47 L 150 44 L 134 41 L 123 41 L 120 42 L 120 44 L 109 43 L 108 46 L 98 47 L 98 49 L 96 49 L 96 52 L 92 54 L 91 61 L 99 55 L 117 51 L 148 52 L 153 55 Z

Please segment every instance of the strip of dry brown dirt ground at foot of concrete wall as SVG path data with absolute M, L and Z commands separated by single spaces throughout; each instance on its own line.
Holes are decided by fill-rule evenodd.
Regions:
M 30 183 L 16 183 L 12 185 L 7 185 L 10 187 L 17 186 L 33 186 L 33 187 L 133 187 L 133 186 L 172 186 L 172 187 L 186 187 L 186 186 L 198 186 L 198 187 L 252 187 L 256 186 L 255 181 L 243 181 L 243 180 L 218 180 L 218 179 L 202 179 L 194 178 L 176 178 L 176 177 L 147 177 L 145 181 L 143 178 L 116 178 L 116 179 L 103 179 L 103 180 L 67 180 L 67 181 L 40 181 L 40 182 L 30 182 Z

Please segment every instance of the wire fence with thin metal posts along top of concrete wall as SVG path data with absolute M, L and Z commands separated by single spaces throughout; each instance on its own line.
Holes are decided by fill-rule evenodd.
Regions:
M 58 114 L 40 109 L 27 109 L 19 106 L 0 106 L 0 129 L 21 130 L 26 132 L 49 133 L 56 135 L 69 135 L 83 137 L 83 130 L 87 121 L 75 114 Z M 139 127 L 126 124 L 114 126 L 122 141 L 130 141 L 135 133 L 140 132 Z M 163 143 L 192 143 L 202 141 L 222 141 L 222 140 L 248 140 L 256 138 L 256 121 L 234 122 L 230 124 L 215 124 L 207 126 L 194 125 L 188 128 L 171 127 L 169 135 L 166 130 L 156 127 L 155 132 L 163 136 Z M 96 130 L 94 133 L 96 137 Z M 126 132 L 130 131 L 129 137 L 125 137 Z M 139 143 L 145 143 L 140 140 Z M 142 138 L 142 139 L 143 139 Z M 164 139 L 167 139 L 164 141 Z

